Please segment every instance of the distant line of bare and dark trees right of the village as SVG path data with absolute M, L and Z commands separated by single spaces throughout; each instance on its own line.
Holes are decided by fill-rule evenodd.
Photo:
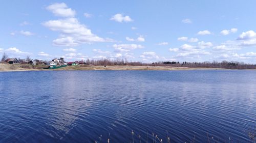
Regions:
M 245 64 L 243 62 L 235 61 L 222 61 L 222 62 L 155 62 L 151 64 L 145 64 L 141 62 L 128 62 L 127 60 L 87 60 L 86 65 L 95 66 L 170 66 L 170 67 L 188 67 L 188 68 L 223 68 L 223 69 L 256 69 L 256 65 Z

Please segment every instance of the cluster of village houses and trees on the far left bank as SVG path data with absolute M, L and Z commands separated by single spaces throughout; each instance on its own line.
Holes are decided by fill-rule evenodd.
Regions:
M 52 61 L 43 61 L 43 60 L 30 60 L 29 58 L 17 59 L 17 58 L 8 58 L 5 60 L 5 63 L 18 65 L 18 64 L 30 64 L 30 65 L 43 65 L 45 69 L 57 69 L 66 66 L 79 66 L 86 65 L 84 61 L 75 61 L 75 62 L 65 62 L 64 58 L 55 58 Z

